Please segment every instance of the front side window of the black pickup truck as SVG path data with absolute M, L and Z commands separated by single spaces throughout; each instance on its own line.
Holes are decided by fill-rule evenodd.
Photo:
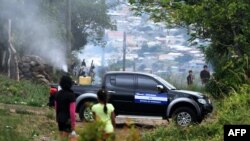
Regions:
M 139 90 L 150 90 L 150 91 L 157 91 L 156 86 L 158 83 L 150 77 L 147 76 L 138 76 L 138 89 Z

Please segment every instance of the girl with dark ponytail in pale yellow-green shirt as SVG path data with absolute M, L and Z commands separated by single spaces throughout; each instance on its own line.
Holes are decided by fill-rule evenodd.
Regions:
M 96 121 L 104 123 L 104 140 L 114 137 L 115 113 L 114 106 L 107 103 L 107 92 L 100 89 L 97 92 L 98 103 L 93 105 L 91 110 Z

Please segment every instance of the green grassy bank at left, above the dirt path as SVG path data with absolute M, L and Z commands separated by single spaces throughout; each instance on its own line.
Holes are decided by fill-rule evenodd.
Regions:
M 24 80 L 17 82 L 0 75 L 1 103 L 45 106 L 48 103 L 48 95 L 47 85 Z

